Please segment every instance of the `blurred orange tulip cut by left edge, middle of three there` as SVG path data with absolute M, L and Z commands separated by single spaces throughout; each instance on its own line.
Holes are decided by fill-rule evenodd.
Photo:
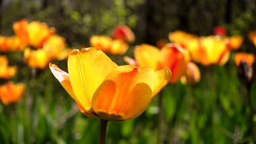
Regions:
M 8 66 L 8 59 L 5 55 L 0 56 L 0 78 L 4 79 L 10 79 L 12 78 L 16 72 L 17 72 L 17 67 L 15 66 Z

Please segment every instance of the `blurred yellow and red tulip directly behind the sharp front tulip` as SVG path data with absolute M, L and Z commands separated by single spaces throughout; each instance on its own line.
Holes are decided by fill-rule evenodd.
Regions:
M 154 70 L 169 68 L 172 71 L 170 83 L 179 81 L 180 77 L 186 74 L 186 66 L 189 56 L 186 50 L 183 50 L 177 44 L 166 44 L 161 50 L 157 47 L 141 44 L 135 47 L 135 61 L 125 57 L 130 65 L 149 67 Z

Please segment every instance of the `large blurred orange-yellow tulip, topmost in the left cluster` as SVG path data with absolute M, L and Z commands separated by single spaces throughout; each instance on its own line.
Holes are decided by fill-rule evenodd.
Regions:
M 42 48 L 46 39 L 55 33 L 54 28 L 49 28 L 46 23 L 39 21 L 27 22 L 22 19 L 14 22 L 13 29 L 15 34 L 20 37 L 23 44 Z

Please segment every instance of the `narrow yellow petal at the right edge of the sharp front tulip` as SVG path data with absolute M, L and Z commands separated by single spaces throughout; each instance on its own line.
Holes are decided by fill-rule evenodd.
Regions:
M 154 77 L 155 77 L 155 85 L 154 85 L 154 90 L 152 94 L 152 98 L 161 91 L 164 86 L 170 82 L 170 79 L 172 77 L 171 70 L 169 68 L 167 69 L 161 69 L 158 71 L 154 72 Z

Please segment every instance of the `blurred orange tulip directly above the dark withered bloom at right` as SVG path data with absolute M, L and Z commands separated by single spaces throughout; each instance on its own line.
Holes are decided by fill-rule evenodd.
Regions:
M 245 61 L 247 65 L 251 67 L 255 60 L 255 57 L 251 53 L 239 52 L 235 54 L 234 60 L 236 66 L 240 66 L 241 61 Z

